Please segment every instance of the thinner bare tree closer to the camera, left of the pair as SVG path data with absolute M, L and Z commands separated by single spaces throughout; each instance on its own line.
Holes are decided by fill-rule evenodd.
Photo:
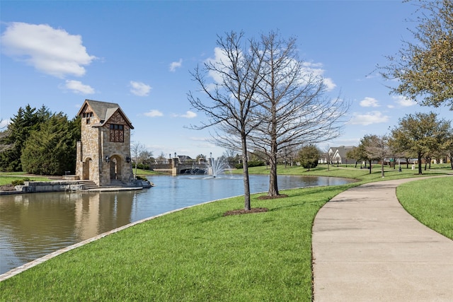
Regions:
M 215 127 L 212 135 L 214 142 L 227 149 L 242 151 L 244 209 L 250 210 L 250 182 L 248 179 L 247 138 L 258 124 L 251 112 L 256 107 L 256 89 L 260 83 L 260 64 L 263 54 L 257 50 L 255 42 L 243 43 L 243 33 L 226 33 L 217 36 L 217 50 L 222 59 L 209 61 L 202 68 L 197 66 L 192 76 L 200 86 L 204 98 L 188 93 L 188 100 L 196 110 L 205 112 L 207 122 L 192 129 Z M 216 81 L 208 83 L 206 77 Z M 240 141 L 240 144 L 239 141 Z

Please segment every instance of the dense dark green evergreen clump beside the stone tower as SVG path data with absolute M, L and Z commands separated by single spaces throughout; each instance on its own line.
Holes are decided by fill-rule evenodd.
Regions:
M 81 120 L 69 120 L 63 112 L 19 108 L 8 127 L 0 132 L 0 170 L 40 175 L 74 173 L 76 141 L 81 137 Z

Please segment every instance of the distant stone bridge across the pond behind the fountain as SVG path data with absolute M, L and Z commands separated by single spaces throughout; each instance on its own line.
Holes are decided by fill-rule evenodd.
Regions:
M 156 172 L 176 175 L 207 174 L 212 175 L 211 165 L 207 162 L 179 161 L 179 158 L 170 158 L 168 162 L 154 163 L 149 165 L 151 170 Z

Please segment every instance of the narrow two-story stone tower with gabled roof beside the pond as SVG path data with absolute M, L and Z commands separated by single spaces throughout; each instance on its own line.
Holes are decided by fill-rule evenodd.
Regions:
M 109 185 L 133 180 L 130 158 L 132 123 L 116 103 L 85 100 L 79 113 L 81 141 L 77 142 L 76 176 Z

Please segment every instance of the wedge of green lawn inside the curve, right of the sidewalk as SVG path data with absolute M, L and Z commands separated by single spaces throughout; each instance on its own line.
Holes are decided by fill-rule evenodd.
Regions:
M 453 177 L 400 185 L 398 200 L 415 219 L 453 240 Z

